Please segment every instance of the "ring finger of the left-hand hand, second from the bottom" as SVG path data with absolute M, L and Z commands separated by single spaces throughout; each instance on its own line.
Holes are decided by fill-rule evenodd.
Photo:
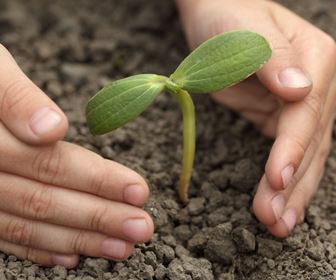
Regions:
M 59 255 L 87 255 L 124 260 L 133 244 L 95 232 L 66 228 L 0 212 L 0 236 L 7 242 Z

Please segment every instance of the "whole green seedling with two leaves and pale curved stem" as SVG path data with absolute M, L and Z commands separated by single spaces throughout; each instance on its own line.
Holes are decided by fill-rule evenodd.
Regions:
M 87 104 L 86 117 L 94 135 L 108 133 L 141 114 L 162 91 L 178 102 L 183 117 L 183 159 L 179 196 L 188 201 L 195 155 L 195 109 L 189 93 L 210 93 L 232 86 L 259 70 L 272 53 L 259 34 L 238 30 L 204 42 L 170 77 L 140 74 L 113 81 Z M 262 100 L 260 101 L 262 102 Z

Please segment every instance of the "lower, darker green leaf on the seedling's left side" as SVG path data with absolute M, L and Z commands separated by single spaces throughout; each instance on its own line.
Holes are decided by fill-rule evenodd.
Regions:
M 100 90 L 87 104 L 92 134 L 104 134 L 140 115 L 163 90 L 167 77 L 142 74 L 117 80 Z

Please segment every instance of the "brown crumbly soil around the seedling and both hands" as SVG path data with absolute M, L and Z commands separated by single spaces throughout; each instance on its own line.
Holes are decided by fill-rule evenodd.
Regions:
M 66 270 L 0 253 L 0 279 L 336 279 L 335 141 L 304 222 L 280 240 L 250 208 L 271 141 L 207 96 L 195 98 L 198 147 L 185 207 L 174 187 L 180 113 L 168 95 L 114 133 L 90 136 L 85 103 L 107 81 L 169 74 L 188 52 L 171 2 L 0 0 L 1 42 L 66 112 L 67 140 L 140 172 L 151 187 L 145 209 L 156 224 L 152 241 L 125 262 L 82 257 Z M 336 36 L 334 0 L 280 2 Z

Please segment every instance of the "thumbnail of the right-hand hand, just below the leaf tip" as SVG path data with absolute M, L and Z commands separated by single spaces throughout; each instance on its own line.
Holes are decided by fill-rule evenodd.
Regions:
M 312 81 L 299 68 L 287 68 L 279 73 L 278 78 L 284 87 L 305 88 L 312 85 Z

